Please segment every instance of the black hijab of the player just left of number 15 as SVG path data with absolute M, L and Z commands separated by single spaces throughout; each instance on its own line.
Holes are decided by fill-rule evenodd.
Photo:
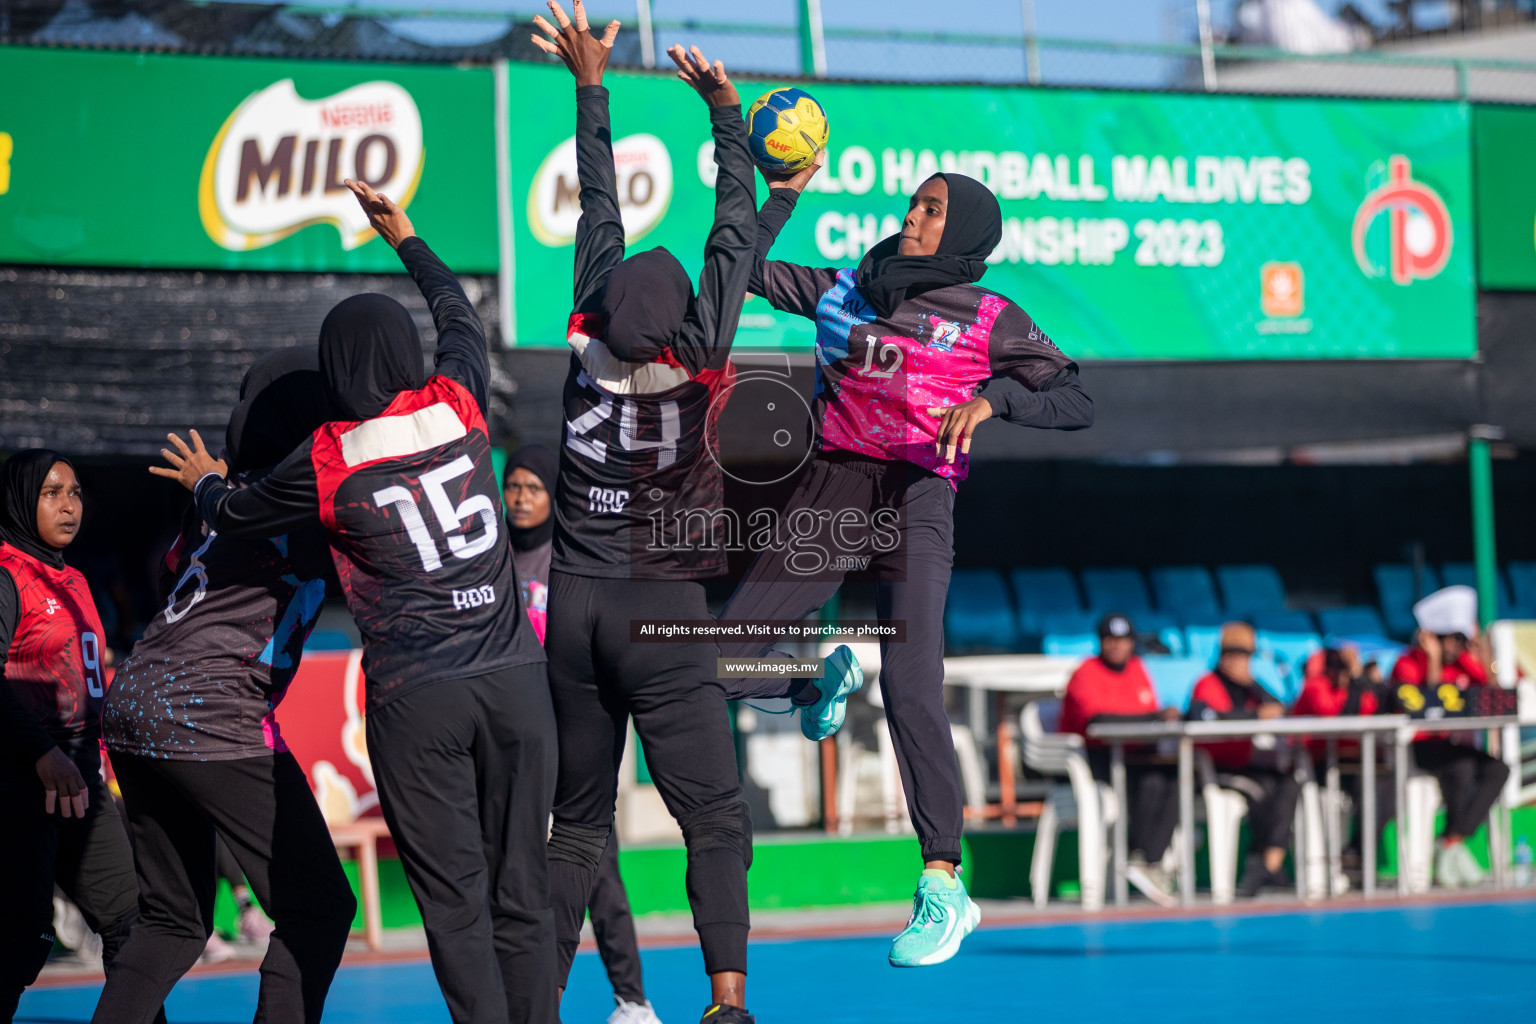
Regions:
M 276 465 L 321 424 L 339 419 L 333 408 L 313 348 L 266 353 L 246 370 L 240 402 L 229 415 L 224 447 L 230 471 Z

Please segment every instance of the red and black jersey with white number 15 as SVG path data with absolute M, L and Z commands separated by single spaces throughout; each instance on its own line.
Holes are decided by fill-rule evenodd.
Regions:
M 425 683 L 544 660 L 501 536 L 485 419 L 464 385 L 433 376 L 379 416 L 326 424 L 310 459 L 336 576 L 362 633 L 369 708 Z

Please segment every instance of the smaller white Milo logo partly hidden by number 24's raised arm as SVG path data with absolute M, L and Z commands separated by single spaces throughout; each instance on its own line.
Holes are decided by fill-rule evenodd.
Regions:
M 671 204 L 671 155 L 654 135 L 628 135 L 613 143 L 619 216 L 628 243 L 656 227 Z M 545 246 L 576 241 L 581 220 L 581 184 L 576 178 L 576 138 L 550 150 L 528 189 L 528 229 Z

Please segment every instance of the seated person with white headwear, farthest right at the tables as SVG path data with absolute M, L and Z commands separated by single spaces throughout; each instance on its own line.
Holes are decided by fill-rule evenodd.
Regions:
M 1461 694 L 1488 685 L 1487 639 L 1478 629 L 1478 596 L 1470 586 L 1447 586 L 1413 606 L 1419 629 L 1415 646 L 1392 668 L 1395 697 L 1407 711 L 1436 703 L 1453 711 Z M 1475 886 L 1487 872 L 1467 849 L 1508 781 L 1508 765 L 1445 732 L 1419 732 L 1413 763 L 1435 775 L 1445 801 L 1445 831 L 1435 855 L 1435 878 L 1447 889 Z

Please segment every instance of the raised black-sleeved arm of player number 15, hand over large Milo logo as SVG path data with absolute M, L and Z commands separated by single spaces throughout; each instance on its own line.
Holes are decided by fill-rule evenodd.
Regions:
M 347 178 L 347 187 L 358 198 L 358 206 L 369 215 L 369 224 L 387 241 L 399 261 L 406 264 L 412 281 L 421 289 L 432 310 L 432 322 L 438 329 L 438 352 L 433 358 L 438 373 L 453 378 L 475 396 L 481 411 L 485 411 L 490 391 L 490 353 L 485 350 L 485 327 L 479 313 L 470 304 L 464 287 L 453 272 L 427 243 L 416 236 L 406 210 L 382 192 L 375 192 L 366 181 Z

